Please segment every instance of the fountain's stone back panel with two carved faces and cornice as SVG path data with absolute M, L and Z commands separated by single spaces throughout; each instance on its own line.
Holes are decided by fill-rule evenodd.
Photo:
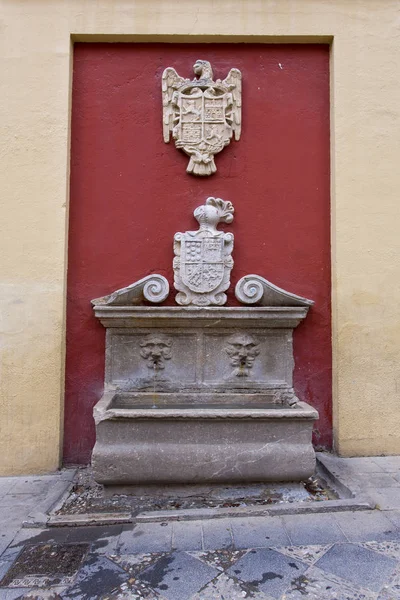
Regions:
M 106 387 L 183 395 L 237 389 L 264 394 L 239 402 L 292 404 L 292 331 L 307 310 L 96 306 L 107 328 Z M 210 396 L 193 402 L 206 400 L 215 402 Z M 231 404 L 232 397 L 221 402 Z

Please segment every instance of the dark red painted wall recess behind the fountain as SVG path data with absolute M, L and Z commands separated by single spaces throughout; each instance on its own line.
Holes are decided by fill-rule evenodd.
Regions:
M 164 144 L 161 74 L 243 74 L 243 128 L 218 172 L 186 174 Z M 315 300 L 295 332 L 295 388 L 331 444 L 329 50 L 325 45 L 76 44 L 72 96 L 65 397 L 66 463 L 86 463 L 102 394 L 104 329 L 90 300 L 152 272 L 172 285 L 172 240 L 207 196 L 235 207 L 232 287 L 258 273 Z M 170 303 L 173 302 L 173 293 Z

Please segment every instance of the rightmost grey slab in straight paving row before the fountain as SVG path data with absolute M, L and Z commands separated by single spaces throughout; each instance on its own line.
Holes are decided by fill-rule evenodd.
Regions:
M 377 510 L 335 513 L 334 519 L 350 542 L 398 539 L 399 530 Z

